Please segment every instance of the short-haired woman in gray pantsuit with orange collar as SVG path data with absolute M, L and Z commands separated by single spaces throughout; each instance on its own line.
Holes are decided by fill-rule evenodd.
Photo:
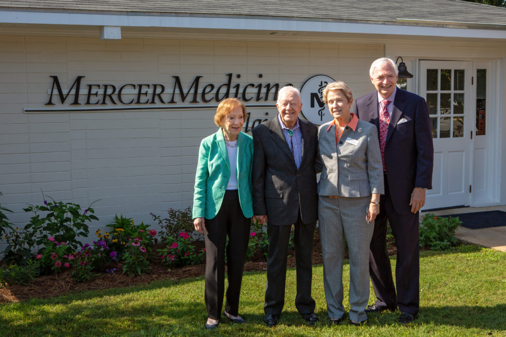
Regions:
M 367 320 L 369 300 L 369 244 L 379 195 L 384 194 L 383 166 L 376 127 L 359 120 L 350 108 L 350 88 L 329 83 L 323 102 L 334 117 L 320 126 L 318 147 L 323 164 L 318 183 L 318 219 L 323 253 L 327 312 L 339 324 L 343 306 L 345 244 L 350 255 L 350 324 Z

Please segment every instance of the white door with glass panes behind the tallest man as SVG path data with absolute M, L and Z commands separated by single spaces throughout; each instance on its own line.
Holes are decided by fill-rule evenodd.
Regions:
M 420 95 L 429 106 L 434 173 L 424 209 L 470 204 L 472 63 L 420 61 Z

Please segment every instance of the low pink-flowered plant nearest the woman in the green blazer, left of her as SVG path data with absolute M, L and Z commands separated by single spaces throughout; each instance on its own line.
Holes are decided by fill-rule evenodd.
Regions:
M 180 232 L 177 237 L 168 236 L 164 241 L 166 248 L 158 250 L 162 263 L 169 267 L 202 263 L 205 249 L 196 253 L 193 242 L 194 238 L 187 232 Z

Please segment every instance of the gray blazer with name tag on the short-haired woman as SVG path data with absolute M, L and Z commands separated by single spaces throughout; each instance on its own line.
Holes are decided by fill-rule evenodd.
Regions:
M 355 131 L 345 127 L 335 145 L 335 126 L 318 129 L 318 147 L 323 164 L 318 195 L 367 197 L 384 194 L 383 164 L 376 127 L 359 120 Z

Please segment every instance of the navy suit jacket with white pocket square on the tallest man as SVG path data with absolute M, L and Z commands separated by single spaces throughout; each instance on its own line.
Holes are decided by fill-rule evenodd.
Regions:
M 358 118 L 376 125 L 379 137 L 378 93 L 357 99 Z M 385 142 L 385 167 L 390 198 L 399 214 L 411 212 L 414 187 L 432 188 L 434 147 L 429 110 L 424 98 L 397 88 Z

